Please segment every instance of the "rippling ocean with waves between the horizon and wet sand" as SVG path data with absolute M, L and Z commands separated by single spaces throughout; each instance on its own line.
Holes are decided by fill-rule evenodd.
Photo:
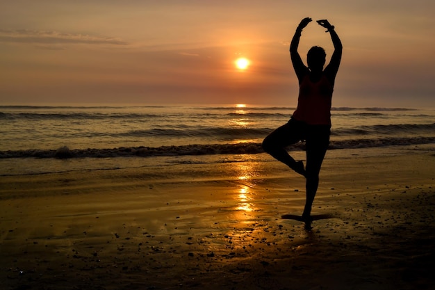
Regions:
M 262 154 L 261 142 L 294 110 L 249 105 L 0 106 L 0 175 L 272 161 Z M 349 156 L 350 150 L 433 150 L 434 120 L 434 109 L 333 108 L 332 153 L 326 158 Z M 303 143 L 288 149 L 304 158 Z

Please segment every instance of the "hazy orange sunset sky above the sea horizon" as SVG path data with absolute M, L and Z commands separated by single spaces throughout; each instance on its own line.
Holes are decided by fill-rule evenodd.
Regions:
M 288 45 L 312 17 L 344 46 L 333 106 L 435 107 L 432 0 L 2 2 L 0 104 L 295 106 Z M 331 55 L 315 22 L 313 45 Z

